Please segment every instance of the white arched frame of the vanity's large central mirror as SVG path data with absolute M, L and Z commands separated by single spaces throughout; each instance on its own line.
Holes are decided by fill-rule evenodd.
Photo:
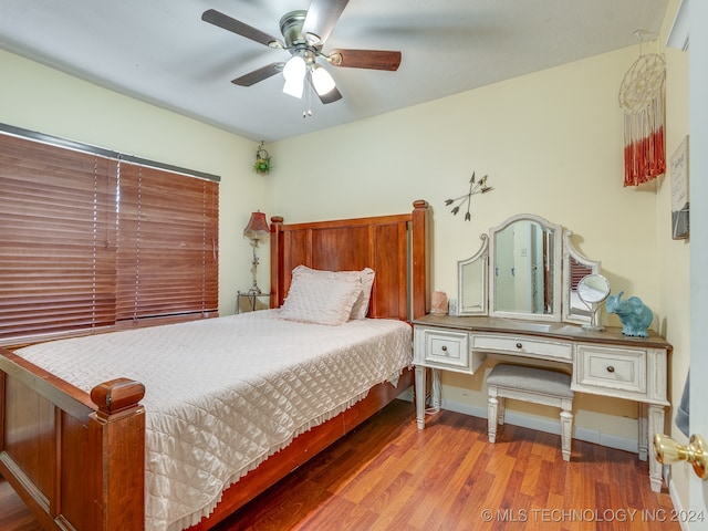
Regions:
M 496 274 L 493 261 L 496 260 L 497 250 L 497 233 L 504 230 L 510 225 L 517 221 L 531 221 L 540 225 L 543 230 L 548 230 L 552 233 L 553 256 L 550 257 L 550 262 L 553 267 L 553 311 L 551 313 L 528 313 L 528 312 L 510 312 L 496 309 Z M 562 243 L 563 243 L 563 227 L 560 225 L 551 223 L 541 216 L 533 214 L 520 214 L 506 219 L 501 225 L 493 227 L 489 230 L 489 268 L 488 268 L 488 285 L 489 285 L 489 315 L 493 317 L 510 317 L 510 319 L 524 319 L 532 321 L 561 321 L 562 316 L 562 294 L 563 274 L 562 274 Z

